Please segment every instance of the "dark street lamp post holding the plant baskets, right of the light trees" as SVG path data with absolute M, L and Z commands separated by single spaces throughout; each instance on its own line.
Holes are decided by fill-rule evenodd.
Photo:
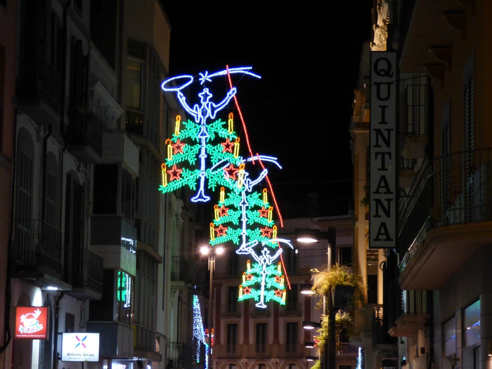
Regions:
M 329 227 L 328 232 L 321 232 L 319 229 L 304 229 L 296 228 L 295 238 L 298 242 L 305 244 L 319 243 L 321 240 L 328 241 L 328 271 L 330 271 L 332 265 L 335 263 L 335 251 L 337 247 L 336 243 L 337 229 L 335 227 Z M 301 291 L 301 293 L 307 293 Z M 336 369 L 336 336 L 335 336 L 335 315 L 336 311 L 333 307 L 331 287 L 328 294 L 323 296 L 323 312 L 328 315 L 328 339 L 326 340 L 325 347 L 323 349 L 323 357 L 321 360 L 322 369 Z

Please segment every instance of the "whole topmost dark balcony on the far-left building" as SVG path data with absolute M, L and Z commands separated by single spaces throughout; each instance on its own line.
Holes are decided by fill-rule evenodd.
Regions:
M 17 96 L 22 110 L 41 124 L 60 118 L 62 75 L 43 57 L 26 53 L 20 64 Z

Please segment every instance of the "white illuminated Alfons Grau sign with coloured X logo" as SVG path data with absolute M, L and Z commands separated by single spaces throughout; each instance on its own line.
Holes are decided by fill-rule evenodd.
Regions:
M 99 334 L 63 333 L 62 361 L 99 361 Z

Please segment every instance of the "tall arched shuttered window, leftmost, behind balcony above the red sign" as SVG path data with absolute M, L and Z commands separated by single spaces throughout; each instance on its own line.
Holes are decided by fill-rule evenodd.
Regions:
M 34 145 L 28 132 L 19 134 L 17 158 L 17 260 L 28 261 L 32 240 L 32 169 Z

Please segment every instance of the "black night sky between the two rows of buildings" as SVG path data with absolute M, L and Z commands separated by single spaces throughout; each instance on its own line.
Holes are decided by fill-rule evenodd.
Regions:
M 253 152 L 277 156 L 283 166 L 269 177 L 284 217 L 346 215 L 351 103 L 372 1 L 163 4 L 172 26 L 170 76 L 212 73 L 226 64 L 253 66 L 262 76 L 231 75 Z M 228 89 L 221 77 L 207 87 L 214 101 Z M 197 101 L 199 91 L 195 82 L 188 101 Z M 238 131 L 240 124 L 235 114 Z M 244 135 L 241 143 L 246 156 Z

